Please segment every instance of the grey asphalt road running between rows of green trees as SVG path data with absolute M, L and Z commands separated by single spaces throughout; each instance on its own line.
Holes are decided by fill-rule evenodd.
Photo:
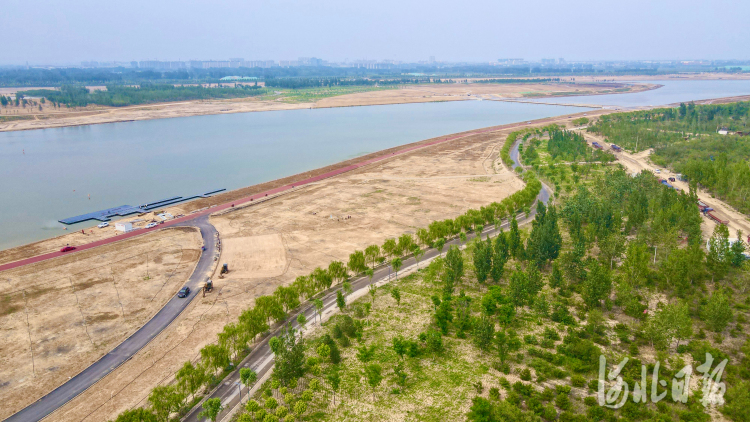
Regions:
M 520 141 L 519 141 L 520 142 Z M 511 158 L 514 161 L 514 168 L 519 166 L 520 163 L 518 161 L 518 142 L 513 146 L 511 149 Z M 550 189 L 542 184 L 542 190 L 539 192 L 539 195 L 537 196 L 537 201 L 542 201 L 543 203 L 547 204 L 550 199 Z M 523 219 L 519 219 L 518 223 L 519 225 L 527 224 L 530 221 L 534 219 L 534 216 L 536 215 L 536 207 L 531 207 L 531 212 L 528 216 L 526 216 Z M 508 223 L 503 224 L 502 226 L 498 227 L 497 229 L 494 227 L 490 227 L 487 230 L 485 230 L 482 233 L 482 236 L 492 236 L 494 237 L 499 233 L 500 228 L 507 228 Z M 470 234 L 467 236 L 467 242 L 470 241 L 475 237 L 474 234 Z M 444 250 L 447 250 L 449 245 L 462 245 L 463 243 L 460 241 L 460 239 L 454 239 L 450 242 L 446 243 L 446 246 Z M 437 249 L 428 249 L 425 251 L 424 256 L 422 257 L 421 261 L 428 260 L 430 258 L 434 258 L 437 255 L 439 255 L 440 252 Z M 408 270 L 414 266 L 417 265 L 416 260 L 411 257 L 404 260 L 403 267 L 401 269 L 401 272 L 403 273 L 405 270 Z M 376 269 L 374 276 L 372 277 L 372 281 L 370 281 L 369 277 L 360 277 L 357 279 L 354 279 L 351 281 L 352 284 L 352 292 L 357 293 L 361 292 L 362 289 L 367 289 L 370 284 L 379 283 L 379 282 L 387 282 L 391 279 L 395 278 L 395 275 L 392 274 L 391 267 L 389 265 L 381 266 Z M 336 286 L 332 289 L 329 289 L 328 291 L 324 292 L 323 294 L 323 309 L 321 310 L 321 314 L 324 317 L 328 317 L 330 314 L 335 313 L 338 309 L 336 307 L 336 291 L 340 289 L 340 286 Z M 258 374 L 258 380 L 263 379 L 263 377 L 273 369 L 273 352 L 271 352 L 271 348 L 268 345 L 268 340 L 279 334 L 282 327 L 289 324 L 291 327 L 293 327 L 295 330 L 299 330 L 299 324 L 297 324 L 297 315 L 300 313 L 305 314 L 305 318 L 307 319 L 308 324 L 310 324 L 312 321 L 315 320 L 316 313 L 315 308 L 312 304 L 306 304 L 304 308 L 297 311 L 294 314 L 290 314 L 287 318 L 287 322 L 276 324 L 274 328 L 272 329 L 271 334 L 269 334 L 267 337 L 265 337 L 256 347 L 255 349 L 238 365 L 238 368 L 252 368 L 257 374 Z M 250 386 L 252 389 L 252 386 Z M 248 389 L 247 386 L 241 385 L 239 382 L 239 370 L 235 370 L 231 374 L 229 374 L 224 381 L 221 383 L 221 385 L 216 388 L 208 397 L 209 398 L 220 398 L 221 404 L 224 406 L 224 411 L 222 411 L 219 416 L 216 418 L 216 421 L 222 421 L 227 418 L 232 413 L 232 410 L 240 403 L 241 398 L 246 398 L 248 391 L 251 391 Z M 241 397 L 240 397 L 241 396 Z M 199 418 L 198 414 L 202 411 L 202 407 L 200 405 L 193 407 L 191 411 L 182 419 L 184 422 L 199 422 L 204 421 L 205 419 Z

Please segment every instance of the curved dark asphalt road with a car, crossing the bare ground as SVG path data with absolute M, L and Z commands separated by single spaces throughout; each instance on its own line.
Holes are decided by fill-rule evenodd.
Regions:
M 216 248 L 216 229 L 208 222 L 208 216 L 201 216 L 182 226 L 195 226 L 201 231 L 203 245 L 206 250 L 201 253 L 193 274 L 186 286 L 190 287 L 190 295 L 186 298 L 174 296 L 164 307 L 154 315 L 144 326 L 133 335 L 125 339 L 120 345 L 112 349 L 101 359 L 84 369 L 81 373 L 68 380 L 65 384 L 52 390 L 49 394 L 30 404 L 20 412 L 12 415 L 8 422 L 39 421 L 57 408 L 84 392 L 94 383 L 130 359 L 146 346 L 154 337 L 159 335 L 177 318 L 187 305 L 200 294 L 198 286 L 213 273 L 214 259 L 218 257 Z

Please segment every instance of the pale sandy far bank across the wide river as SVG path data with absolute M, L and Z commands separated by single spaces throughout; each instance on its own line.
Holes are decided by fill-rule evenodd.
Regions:
M 12 88 L 8 88 L 12 89 Z M 647 89 L 640 85 L 633 90 Z M 11 107 L 4 109 L 0 117 L 8 115 L 25 116 L 28 120 L 0 121 L 0 132 L 14 130 L 43 129 L 52 127 L 80 126 L 135 120 L 166 119 L 206 114 L 247 113 L 272 110 L 293 110 L 319 107 L 354 107 L 382 104 L 406 104 L 470 99 L 469 95 L 495 94 L 503 97 L 535 97 L 560 95 L 591 95 L 612 92 L 611 86 L 571 85 L 571 84 L 445 84 L 418 85 L 399 89 L 369 91 L 357 94 L 324 98 L 317 102 L 285 103 L 261 101 L 254 98 L 231 100 L 184 101 L 178 103 L 151 104 L 131 107 L 89 106 L 81 109 L 53 108 L 49 103 L 38 106 Z

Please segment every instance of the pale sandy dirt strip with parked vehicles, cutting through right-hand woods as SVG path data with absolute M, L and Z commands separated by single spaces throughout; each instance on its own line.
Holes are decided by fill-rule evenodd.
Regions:
M 609 143 L 605 142 L 601 136 L 586 132 L 582 133 L 587 140 L 598 141 L 599 143 L 606 145 L 607 147 L 609 147 L 610 145 Z M 669 169 L 665 169 L 664 167 L 657 166 L 651 162 L 651 160 L 649 159 L 651 153 L 653 153 L 652 149 L 641 151 L 637 154 L 630 154 L 625 151 L 614 154 L 615 157 L 617 157 L 618 162 L 625 167 L 629 174 L 639 173 L 641 171 L 649 171 L 656 174 L 655 170 L 659 169 L 660 173 L 656 174 L 656 176 L 660 179 L 668 179 L 670 177 L 674 177 L 676 179 L 676 173 L 669 171 Z M 685 192 L 690 190 L 687 182 L 681 182 L 677 180 L 675 182 L 669 183 L 677 188 L 682 189 Z M 729 220 L 728 227 L 730 237 L 736 238 L 737 230 L 742 230 L 742 233 L 744 233 L 745 236 L 750 234 L 750 222 L 748 221 L 746 215 L 735 210 L 732 206 L 725 203 L 724 201 L 718 198 L 714 198 L 712 194 L 705 189 L 698 189 L 696 193 L 698 194 L 698 199 L 708 204 L 711 208 L 717 210 L 720 217 L 726 217 L 726 219 Z M 715 227 L 716 223 L 713 220 L 708 217 L 703 217 L 703 223 L 701 224 L 703 237 L 709 238 L 713 234 Z

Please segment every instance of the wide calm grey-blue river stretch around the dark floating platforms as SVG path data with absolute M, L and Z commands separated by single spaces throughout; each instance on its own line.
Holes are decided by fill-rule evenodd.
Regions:
M 63 234 L 57 220 L 91 211 L 237 189 L 435 136 L 582 110 L 460 101 L 4 132 L 0 249 Z

